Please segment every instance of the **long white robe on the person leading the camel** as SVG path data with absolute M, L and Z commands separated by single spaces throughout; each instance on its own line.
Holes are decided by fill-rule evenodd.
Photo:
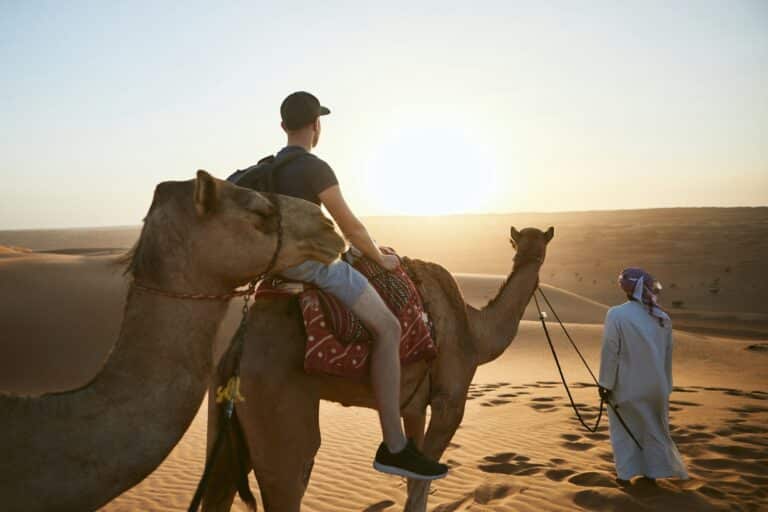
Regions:
M 672 327 L 640 303 L 612 307 L 605 317 L 600 385 L 613 391 L 619 414 L 643 447 L 641 451 L 608 408 L 616 473 L 629 480 L 688 478 L 669 433 L 672 392 Z

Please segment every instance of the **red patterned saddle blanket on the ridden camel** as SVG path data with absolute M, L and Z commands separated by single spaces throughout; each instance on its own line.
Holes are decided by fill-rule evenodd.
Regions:
M 381 250 L 395 254 L 387 247 Z M 416 285 L 405 269 L 400 266 L 389 272 L 364 256 L 345 255 L 345 259 L 368 279 L 400 321 L 401 364 L 433 359 L 437 345 L 431 324 Z M 368 375 L 372 337 L 346 305 L 309 283 L 282 278 L 265 280 L 256 292 L 257 297 L 275 294 L 298 295 L 307 335 L 304 352 L 307 373 L 351 378 Z

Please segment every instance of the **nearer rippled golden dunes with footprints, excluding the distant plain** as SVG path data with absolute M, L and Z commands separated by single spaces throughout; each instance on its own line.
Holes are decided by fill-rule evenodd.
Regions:
M 117 336 L 127 287 L 121 268 L 111 256 L 5 254 L 0 259 L 0 389 L 35 393 L 87 381 Z M 503 279 L 457 275 L 476 306 L 487 302 Z M 606 306 L 561 288 L 544 289 L 597 368 Z M 219 347 L 234 330 L 238 309 L 233 303 Z M 607 432 L 589 434 L 577 425 L 533 308 L 525 318 L 507 352 L 476 375 L 464 422 L 444 457 L 452 472 L 433 487 L 430 510 L 768 507 L 768 353 L 748 350 L 768 340 L 676 333 L 671 420 L 693 479 L 623 488 L 614 480 Z M 592 416 L 598 401 L 589 375 L 554 324 L 552 331 L 575 398 Z M 205 414 L 203 404 L 166 461 L 103 510 L 186 509 L 202 472 Z M 379 442 L 375 413 L 323 403 L 321 425 L 323 445 L 303 510 L 400 509 L 404 482 L 370 469 Z M 253 478 L 251 487 L 258 492 Z M 235 510 L 244 507 L 236 502 Z

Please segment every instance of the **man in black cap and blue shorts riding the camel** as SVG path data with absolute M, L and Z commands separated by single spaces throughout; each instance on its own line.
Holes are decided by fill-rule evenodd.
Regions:
M 383 254 L 371 239 L 365 226 L 344 200 L 333 169 L 312 154 L 320 139 L 320 117 L 330 110 L 320 105 L 308 92 L 290 94 L 280 106 L 286 146 L 275 155 L 276 170 L 271 188 L 275 193 L 298 197 L 324 205 L 347 240 L 366 257 L 387 270 L 399 265 L 397 256 Z M 282 163 L 281 163 L 282 161 Z M 236 173 L 238 182 L 244 174 Z M 244 179 L 242 185 L 248 186 Z M 400 421 L 400 323 L 375 288 L 354 267 L 342 260 L 330 265 L 307 261 L 282 272 L 282 276 L 312 283 L 335 295 L 354 312 L 373 335 L 371 352 L 371 384 L 379 411 L 384 437 L 376 453 L 373 467 L 384 473 L 408 478 L 434 480 L 448 473 L 444 464 L 426 458 L 412 439 L 406 439 Z M 420 438 L 424 425 L 409 424 L 406 431 Z M 418 432 L 421 430 L 422 432 Z

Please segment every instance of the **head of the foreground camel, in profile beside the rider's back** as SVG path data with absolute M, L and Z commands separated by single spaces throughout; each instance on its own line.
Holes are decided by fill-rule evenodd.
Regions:
M 280 226 L 273 271 L 339 256 L 344 241 L 317 205 L 285 196 L 273 200 L 277 204 L 205 171 L 194 180 L 160 183 L 126 256 L 126 272 L 156 286 L 181 279 L 195 290 L 231 289 L 267 269 Z

